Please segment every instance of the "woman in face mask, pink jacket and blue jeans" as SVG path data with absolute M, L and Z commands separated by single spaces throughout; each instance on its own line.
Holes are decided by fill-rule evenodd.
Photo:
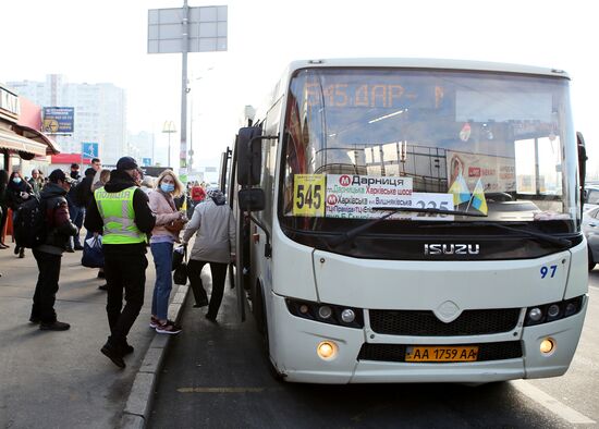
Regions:
M 173 196 L 181 195 L 183 189 L 183 184 L 174 173 L 171 170 L 164 170 L 156 181 L 156 189 L 148 195 L 150 209 L 156 214 L 156 226 L 151 231 L 150 238 L 150 249 L 156 266 L 150 328 L 155 328 L 158 333 L 181 332 L 181 328 L 167 318 L 172 289 L 173 243 L 179 241 L 179 234 L 164 226 L 174 220 L 183 219 L 184 214 L 176 210 L 173 200 Z

